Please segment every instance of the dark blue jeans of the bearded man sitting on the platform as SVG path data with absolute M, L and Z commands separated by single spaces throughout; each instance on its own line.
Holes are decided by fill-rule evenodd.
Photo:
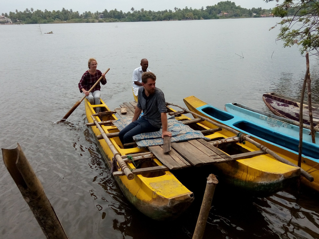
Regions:
M 132 143 L 134 142 L 133 136 L 142 134 L 142 133 L 149 133 L 149 132 L 155 132 L 159 131 L 160 128 L 154 127 L 143 117 L 140 119 L 137 119 L 136 121 L 130 123 L 128 126 L 123 128 L 119 132 L 119 138 L 124 143 Z

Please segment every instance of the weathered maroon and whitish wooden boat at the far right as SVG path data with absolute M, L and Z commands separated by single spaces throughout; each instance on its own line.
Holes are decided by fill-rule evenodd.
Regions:
M 300 100 L 283 96 L 274 92 L 263 94 L 263 102 L 267 105 L 270 111 L 278 116 L 293 119 L 299 122 L 300 116 Z M 318 124 L 319 121 L 319 105 L 312 104 L 312 117 L 314 125 Z M 309 122 L 309 107 L 308 102 L 304 101 L 302 117 L 304 124 L 310 124 Z

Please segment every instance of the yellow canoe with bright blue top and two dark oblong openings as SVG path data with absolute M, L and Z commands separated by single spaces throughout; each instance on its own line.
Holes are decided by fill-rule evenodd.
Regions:
M 248 134 L 251 139 L 274 151 L 282 158 L 293 164 L 298 163 L 299 140 L 296 138 L 277 132 L 277 130 L 257 125 L 249 119 L 222 111 L 195 96 L 189 96 L 183 100 L 190 111 Z M 312 182 L 305 178 L 302 179 L 302 182 L 308 187 L 319 191 L 319 146 L 314 143 L 304 142 L 301 161 L 301 168 L 314 177 Z

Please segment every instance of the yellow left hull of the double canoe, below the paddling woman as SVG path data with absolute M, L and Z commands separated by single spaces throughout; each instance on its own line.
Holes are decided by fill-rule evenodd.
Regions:
M 91 105 L 85 99 L 85 112 L 89 123 L 93 122 L 91 115 L 95 113 L 94 107 L 96 106 L 110 111 L 102 100 L 100 105 Z M 114 114 L 103 117 L 104 118 L 96 117 L 96 120 L 99 122 L 117 119 Z M 105 133 L 118 132 L 118 129 L 113 125 L 102 125 L 101 127 Z M 111 168 L 111 160 L 114 156 L 112 151 L 104 139 L 97 140 L 96 136 L 101 134 L 99 129 L 96 126 L 92 126 L 91 129 L 106 163 Z M 147 152 L 145 148 L 121 148 L 122 145 L 118 137 L 110 138 L 110 141 L 121 155 Z M 156 158 L 154 162 L 158 166 L 162 165 Z M 128 163 L 128 167 L 130 169 L 135 168 L 132 163 Z M 193 193 L 178 181 L 170 171 L 165 171 L 156 177 L 148 177 L 147 175 L 144 177 L 142 174 L 135 174 L 133 180 L 128 180 L 126 176 L 115 177 L 115 179 L 130 203 L 146 216 L 155 220 L 166 220 L 178 217 L 194 200 Z

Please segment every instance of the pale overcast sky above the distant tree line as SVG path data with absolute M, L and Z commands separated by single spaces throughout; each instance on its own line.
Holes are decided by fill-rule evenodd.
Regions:
M 48 11 L 53 10 L 62 10 L 64 7 L 65 9 L 72 9 L 73 12 L 80 12 L 83 13 L 85 11 L 91 12 L 102 12 L 104 9 L 113 10 L 117 9 L 118 11 L 122 10 L 123 12 L 129 12 L 132 7 L 135 10 L 140 10 L 144 8 L 144 10 L 152 10 L 152 11 L 163 11 L 165 9 L 174 10 L 174 7 L 177 8 L 197 8 L 200 9 L 202 6 L 206 9 L 206 6 L 212 6 L 219 2 L 220 0 L 2 0 L 0 4 L 0 14 L 1 13 L 8 13 L 15 12 L 16 9 L 18 11 L 23 12 L 28 8 L 33 8 L 34 11 L 39 9 L 44 11 L 47 9 Z M 237 6 L 241 6 L 243 8 L 273 8 L 276 5 L 276 2 L 265 3 L 263 0 L 234 0 Z

